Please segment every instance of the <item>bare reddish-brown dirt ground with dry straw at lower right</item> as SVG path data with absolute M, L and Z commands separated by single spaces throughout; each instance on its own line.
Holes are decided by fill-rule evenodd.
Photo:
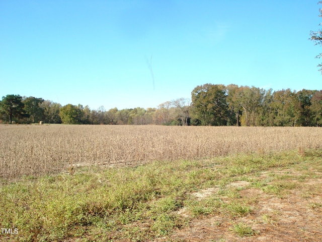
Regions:
M 301 172 L 291 169 L 273 174 Z M 266 172 L 267 173 L 267 172 Z M 270 172 L 272 174 L 272 171 Z M 264 174 L 265 176 L 266 174 Z M 261 176 L 265 178 L 264 176 Z M 284 180 L 287 183 L 287 180 Z M 293 182 L 290 180 L 290 182 Z M 247 181 L 236 181 L 227 187 L 249 187 Z M 299 187 L 283 196 L 265 193 L 259 188 L 245 188 L 240 198 L 253 201 L 253 210 L 244 217 L 231 218 L 218 213 L 193 219 L 189 226 L 178 229 L 172 241 L 322 241 L 322 178 L 307 178 Z M 193 195 L 207 199 L 217 188 L 201 190 Z M 232 231 L 234 224 L 251 226 L 252 236 L 239 236 Z

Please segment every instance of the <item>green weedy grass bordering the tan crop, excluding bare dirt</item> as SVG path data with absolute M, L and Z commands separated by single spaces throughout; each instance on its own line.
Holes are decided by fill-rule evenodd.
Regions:
M 19 234 L 0 234 L 1 241 L 148 241 L 168 236 L 192 218 L 206 215 L 245 217 L 256 209 L 243 194 L 243 187 L 229 187 L 234 181 L 249 181 L 248 188 L 283 196 L 311 178 L 321 159 L 320 151 L 282 154 L 238 154 L 200 161 L 151 162 L 137 167 L 76 168 L 72 175 L 26 176 L 10 182 L 1 180 L 0 226 L 18 228 Z M 308 157 L 312 155 L 312 157 Z M 302 162 L 302 163 L 301 163 Z M 273 169 L 309 167 L 302 176 L 261 176 Z M 317 163 L 319 162 L 319 163 Z M 273 174 L 273 173 L 272 173 Z M 297 177 L 297 178 L 296 178 Z M 191 193 L 220 188 L 197 199 Z M 318 186 L 302 196 L 319 194 Z M 178 211 L 186 207 L 189 217 Z M 320 211 L 319 203 L 309 205 Z M 229 218 L 229 216 L 228 216 Z M 269 215 L 263 220 L 272 223 Z M 235 224 L 240 236 L 254 235 L 248 225 Z

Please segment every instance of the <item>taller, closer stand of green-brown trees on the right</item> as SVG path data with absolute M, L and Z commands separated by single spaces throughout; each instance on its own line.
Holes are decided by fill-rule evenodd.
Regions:
M 192 91 L 197 125 L 322 126 L 322 90 L 205 84 Z

